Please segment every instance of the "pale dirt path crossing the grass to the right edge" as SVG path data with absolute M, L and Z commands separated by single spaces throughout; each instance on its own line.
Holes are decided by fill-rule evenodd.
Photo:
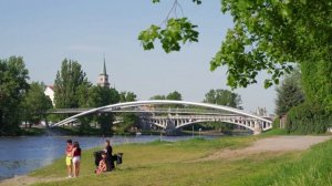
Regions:
M 269 152 L 282 154 L 293 151 L 304 151 L 314 144 L 322 143 L 330 138 L 332 138 L 332 136 L 277 136 L 262 138 L 246 148 L 222 149 L 195 162 L 212 161 L 218 158 L 243 158 L 247 155 Z

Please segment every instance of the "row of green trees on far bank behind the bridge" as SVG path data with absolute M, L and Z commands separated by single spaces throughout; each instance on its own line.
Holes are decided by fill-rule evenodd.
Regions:
M 118 102 L 136 101 L 134 92 L 118 92 L 113 87 L 93 85 L 86 78 L 77 61 L 64 59 L 54 80 L 54 105 L 44 94 L 45 85 L 41 82 L 29 83 L 29 71 L 21 56 L 10 56 L 0 60 L 0 135 L 20 135 L 20 125 L 31 127 L 41 121 L 58 122 L 69 114 L 48 115 L 46 111 L 54 108 L 100 107 Z M 183 100 L 183 95 L 170 92 L 167 95 L 155 95 L 151 100 Z M 220 104 L 241 108 L 240 95 L 228 90 L 210 90 L 205 103 Z M 168 107 L 168 105 L 165 105 Z M 172 105 L 174 106 L 174 105 Z M 176 106 L 176 105 L 175 105 Z M 180 106 L 180 105 L 179 105 Z M 133 113 L 122 113 L 118 132 L 128 132 L 137 127 L 138 117 Z M 98 125 L 101 135 L 111 135 L 112 123 L 115 120 L 112 113 L 97 113 L 79 118 L 79 134 L 89 134 L 92 125 Z

